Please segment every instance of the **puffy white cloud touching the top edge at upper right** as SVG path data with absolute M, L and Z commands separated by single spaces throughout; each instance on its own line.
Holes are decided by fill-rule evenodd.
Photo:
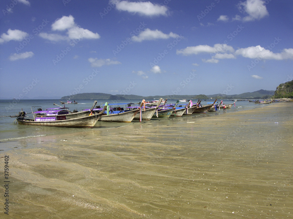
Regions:
M 269 15 L 268 10 L 263 0 L 247 0 L 238 4 L 239 11 L 245 12 L 248 15 L 243 21 L 260 20 Z

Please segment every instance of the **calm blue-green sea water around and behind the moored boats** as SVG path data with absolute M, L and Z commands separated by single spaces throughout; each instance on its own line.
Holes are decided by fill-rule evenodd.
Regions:
M 97 100 L 97 105 L 102 105 L 105 101 L 108 100 Z M 116 100 L 112 100 L 114 102 Z M 142 100 L 119 100 L 116 102 L 132 102 L 137 103 Z M 177 100 L 168 100 L 168 103 L 176 103 Z M 207 102 L 211 102 L 213 100 L 202 101 L 202 104 L 206 104 Z M 82 109 L 89 109 L 93 105 L 94 100 L 78 100 L 80 104 L 66 104 L 66 107 L 69 107 L 69 110 L 73 111 L 77 109 L 78 111 Z M 197 102 L 194 100 L 193 102 Z M 224 103 L 231 103 L 230 100 L 224 100 Z M 15 125 L 13 121 L 16 118 L 6 117 L 10 115 L 18 115 L 18 112 L 23 110 L 28 113 L 28 116 L 32 117 L 31 107 L 32 106 L 40 106 L 42 109 L 58 107 L 53 105 L 56 103 L 59 106 L 63 106 L 59 100 L 0 100 L 0 142 L 3 141 L 13 141 L 22 138 L 34 138 L 44 135 L 52 135 L 52 134 L 70 134 L 74 132 L 79 132 L 80 129 L 68 129 L 68 128 L 55 128 L 55 127 L 38 127 L 38 126 L 25 126 L 25 125 Z M 251 109 L 255 107 L 261 107 L 257 104 L 248 103 L 248 101 L 239 101 L 236 102 L 236 106 L 229 109 L 229 112 L 239 111 L 243 109 Z M 209 113 L 210 114 L 210 113 Z M 213 113 L 211 113 L 213 115 Z M 4 117 L 5 116 L 5 117 Z M 124 126 L 125 124 L 120 123 L 105 123 L 98 122 L 95 128 L 108 128 L 108 127 L 117 127 Z M 6 149 L 6 148 L 5 148 Z

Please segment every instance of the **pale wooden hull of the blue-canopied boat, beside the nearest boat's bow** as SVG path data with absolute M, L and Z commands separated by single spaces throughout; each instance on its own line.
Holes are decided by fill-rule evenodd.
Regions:
M 134 109 L 127 112 L 115 113 L 115 114 L 102 114 L 98 121 L 104 122 L 131 122 L 135 115 L 139 113 L 140 109 Z

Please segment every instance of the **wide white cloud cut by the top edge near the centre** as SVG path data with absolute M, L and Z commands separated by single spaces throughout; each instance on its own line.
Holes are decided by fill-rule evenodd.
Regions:
M 110 0 L 110 4 L 116 5 L 119 11 L 128 11 L 129 13 L 139 13 L 139 15 L 145 16 L 167 16 L 168 8 L 163 5 L 153 4 L 149 1 L 147 2 L 130 2 L 130 1 L 120 1 L 120 0 Z

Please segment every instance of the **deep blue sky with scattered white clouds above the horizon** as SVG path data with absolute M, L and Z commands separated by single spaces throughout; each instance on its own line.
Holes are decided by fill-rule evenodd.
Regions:
M 227 95 L 293 79 L 293 1 L 3 0 L 0 97 Z

